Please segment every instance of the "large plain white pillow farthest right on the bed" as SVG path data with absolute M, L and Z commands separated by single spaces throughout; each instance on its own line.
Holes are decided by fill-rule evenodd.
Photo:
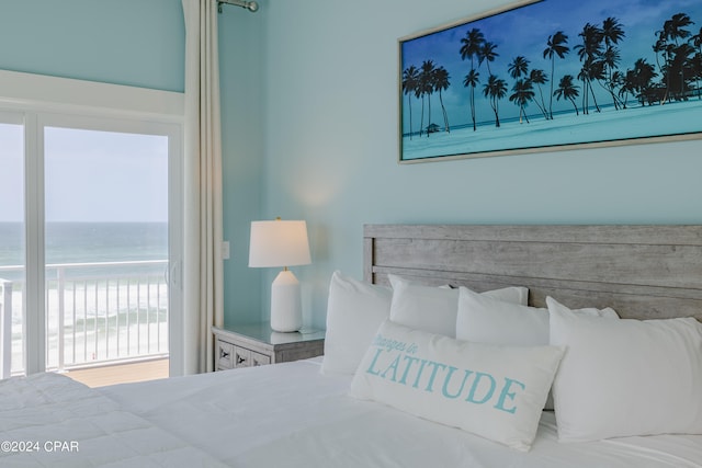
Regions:
M 702 323 L 548 310 L 551 343 L 567 345 L 553 386 L 559 441 L 702 434 Z

